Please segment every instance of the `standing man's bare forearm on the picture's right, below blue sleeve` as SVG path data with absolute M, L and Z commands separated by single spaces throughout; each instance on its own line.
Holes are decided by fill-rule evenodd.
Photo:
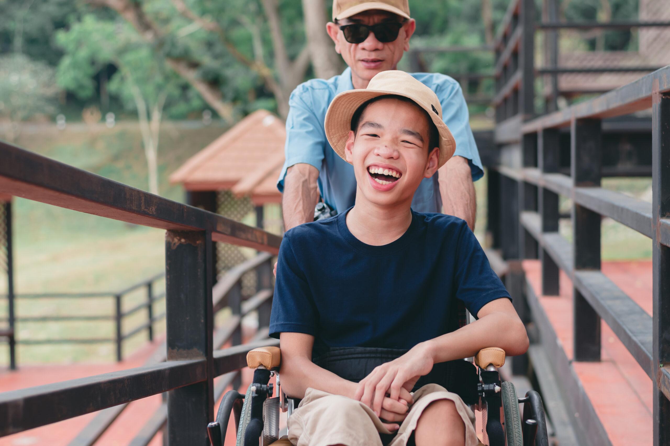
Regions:
M 440 168 L 438 177 L 444 213 L 464 219 L 474 231 L 477 199 L 468 159 L 453 156 Z

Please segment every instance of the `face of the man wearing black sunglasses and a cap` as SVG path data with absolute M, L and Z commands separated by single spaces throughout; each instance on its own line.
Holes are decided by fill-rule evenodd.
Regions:
M 363 23 L 364 25 L 376 25 L 383 22 L 400 23 L 403 20 L 403 17 L 393 13 L 372 9 L 342 19 L 338 23 L 330 22 L 326 25 L 328 35 L 335 42 L 335 50 L 342 55 L 344 62 L 351 68 L 354 88 L 366 88 L 368 82 L 379 72 L 395 70 L 404 51 L 409 50 L 409 37 L 414 33 L 416 23 L 414 19 L 404 21 L 398 37 L 387 43 L 377 40 L 373 32 L 362 43 L 349 43 L 344 39 L 340 26 L 352 23 Z

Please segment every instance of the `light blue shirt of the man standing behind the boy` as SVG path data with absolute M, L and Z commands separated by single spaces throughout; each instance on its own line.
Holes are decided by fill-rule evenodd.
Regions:
M 438 73 L 413 73 L 415 79 L 428 86 L 440 98 L 442 118 L 456 140 L 455 155 L 468 158 L 472 180 L 484 175 L 479 152 L 470 130 L 470 116 L 463 92 L 456 80 Z M 300 84 L 289 98 L 286 119 L 286 146 L 283 169 L 277 181 L 279 192 L 284 190 L 286 169 L 304 162 L 319 169 L 318 185 L 321 196 L 331 209 L 346 211 L 356 199 L 354 167 L 340 158 L 326 139 L 324 120 L 330 102 L 337 94 L 353 90 L 351 69 L 328 80 L 312 79 Z M 421 181 L 414 194 L 412 209 L 416 212 L 440 212 L 442 198 L 438 187 L 438 173 Z

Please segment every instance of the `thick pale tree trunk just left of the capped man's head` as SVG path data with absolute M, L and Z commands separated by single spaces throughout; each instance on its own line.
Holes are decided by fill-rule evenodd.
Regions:
M 302 0 L 305 34 L 317 78 L 328 79 L 342 73 L 342 60 L 326 33 L 327 11 L 324 0 Z

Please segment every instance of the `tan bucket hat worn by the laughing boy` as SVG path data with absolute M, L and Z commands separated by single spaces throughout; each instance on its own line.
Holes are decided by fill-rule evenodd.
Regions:
M 450 132 L 447 124 L 442 120 L 442 106 L 438 95 L 427 86 L 421 84 L 418 80 L 399 70 L 388 70 L 378 73 L 370 80 L 368 88 L 359 90 L 348 90 L 335 96 L 326 112 L 326 138 L 342 159 L 344 157 L 344 145 L 349 137 L 351 130 L 351 118 L 358 107 L 364 102 L 385 96 L 387 94 L 397 94 L 405 96 L 416 102 L 428 113 L 433 120 L 433 124 L 438 128 L 440 134 L 440 158 L 438 160 L 438 169 L 449 160 L 456 150 L 456 140 Z M 432 147 L 431 147 L 432 149 Z

